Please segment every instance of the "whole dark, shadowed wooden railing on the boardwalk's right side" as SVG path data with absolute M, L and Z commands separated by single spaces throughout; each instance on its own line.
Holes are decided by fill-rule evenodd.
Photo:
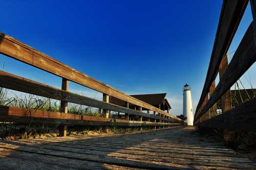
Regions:
M 230 97 L 230 88 L 256 61 L 256 3 L 254 0 L 250 1 L 253 21 L 229 64 L 226 55 L 247 5 L 246 0 L 223 2 L 209 68 L 194 118 L 194 124 L 198 126 L 256 130 L 256 99 L 251 99 L 232 109 Z M 220 81 L 215 88 L 218 72 Z M 222 114 L 213 116 L 212 111 L 216 111 L 216 102 L 219 99 L 222 100 Z

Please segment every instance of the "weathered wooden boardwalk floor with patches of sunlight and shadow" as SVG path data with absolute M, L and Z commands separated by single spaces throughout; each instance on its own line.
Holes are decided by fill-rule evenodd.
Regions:
M 0 169 L 256 169 L 194 127 L 125 135 L 0 141 Z

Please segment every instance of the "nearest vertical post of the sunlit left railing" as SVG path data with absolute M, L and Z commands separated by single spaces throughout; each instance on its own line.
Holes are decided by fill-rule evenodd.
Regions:
M 69 81 L 66 78 L 62 78 L 61 89 L 69 91 Z M 60 112 L 68 113 L 68 102 L 60 101 Z M 67 136 L 67 125 L 59 125 L 59 136 Z

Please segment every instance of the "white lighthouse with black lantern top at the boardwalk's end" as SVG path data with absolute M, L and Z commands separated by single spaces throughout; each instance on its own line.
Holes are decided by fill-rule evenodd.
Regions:
M 193 126 L 191 89 L 187 84 L 183 87 L 183 115 L 187 117 L 187 125 Z

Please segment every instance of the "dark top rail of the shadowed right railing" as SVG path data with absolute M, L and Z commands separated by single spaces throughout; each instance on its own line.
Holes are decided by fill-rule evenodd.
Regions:
M 247 4 L 247 0 L 223 1 L 214 47 L 211 52 L 210 63 L 196 113 L 208 93 L 211 82 L 217 76 L 221 60 L 227 53 Z

